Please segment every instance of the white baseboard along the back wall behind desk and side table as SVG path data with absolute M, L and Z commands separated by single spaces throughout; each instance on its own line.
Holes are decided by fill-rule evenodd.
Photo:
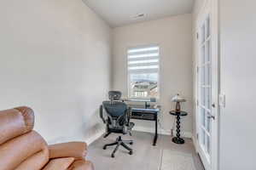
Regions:
M 135 127 L 133 127 L 132 130 L 139 131 L 139 132 L 144 132 L 144 133 L 154 133 L 154 128 L 150 128 L 150 127 L 135 126 Z M 171 135 L 172 134 L 171 130 L 170 131 L 166 131 L 164 129 L 160 129 L 158 131 L 158 133 L 159 134 L 163 134 L 163 135 Z M 190 133 L 190 132 L 183 132 L 183 133 L 181 133 L 181 136 L 183 138 L 192 139 L 192 133 Z

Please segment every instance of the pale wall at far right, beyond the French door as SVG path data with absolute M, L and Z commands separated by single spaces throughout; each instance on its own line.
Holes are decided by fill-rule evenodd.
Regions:
M 256 2 L 221 0 L 220 170 L 255 170 Z

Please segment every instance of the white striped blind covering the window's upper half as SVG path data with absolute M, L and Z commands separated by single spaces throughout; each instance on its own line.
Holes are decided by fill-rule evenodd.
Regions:
M 148 46 L 128 49 L 129 72 L 158 72 L 159 47 Z

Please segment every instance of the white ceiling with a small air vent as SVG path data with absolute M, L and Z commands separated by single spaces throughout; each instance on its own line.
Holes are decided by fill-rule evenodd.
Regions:
M 83 0 L 112 27 L 189 14 L 194 0 Z M 143 17 L 136 18 L 138 14 Z

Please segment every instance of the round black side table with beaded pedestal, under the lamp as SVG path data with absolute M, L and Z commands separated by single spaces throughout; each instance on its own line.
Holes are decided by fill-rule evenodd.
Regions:
M 180 112 L 177 112 L 177 111 L 170 111 L 170 114 L 172 116 L 176 116 L 176 123 L 177 123 L 177 129 L 176 129 L 176 137 L 174 137 L 172 139 L 172 142 L 174 142 L 175 144 L 184 144 L 185 143 L 185 140 L 180 138 L 180 117 L 181 116 L 187 116 L 188 113 L 185 112 L 185 111 L 180 111 Z

